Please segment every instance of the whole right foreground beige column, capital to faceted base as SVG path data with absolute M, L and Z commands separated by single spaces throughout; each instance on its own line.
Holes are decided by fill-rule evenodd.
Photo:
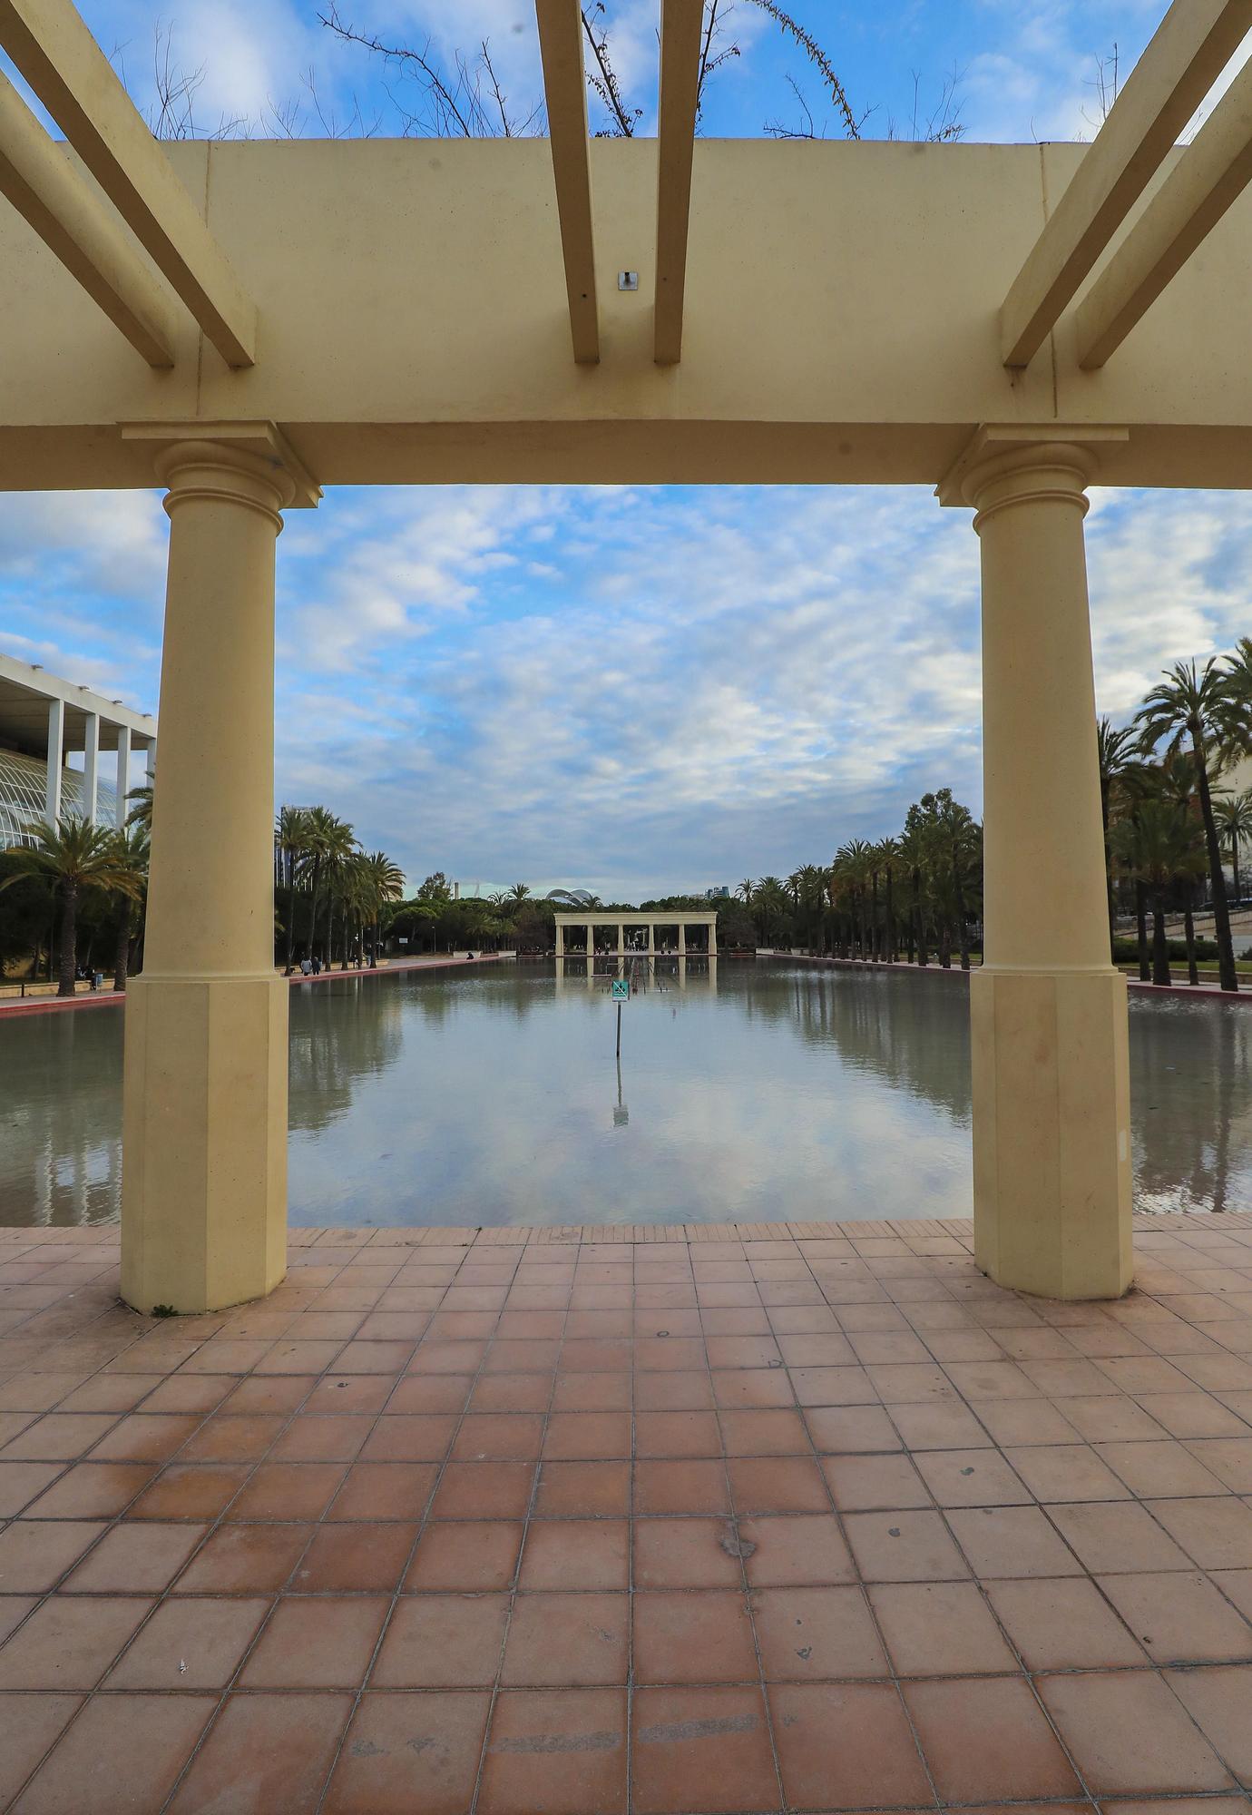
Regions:
M 1127 987 L 1109 962 L 1085 486 L 1061 443 L 980 459 L 983 966 L 971 978 L 974 1254 L 1002 1285 L 1130 1283 Z

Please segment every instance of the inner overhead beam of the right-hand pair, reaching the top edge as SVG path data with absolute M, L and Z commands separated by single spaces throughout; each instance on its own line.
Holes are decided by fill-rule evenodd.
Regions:
M 1031 363 L 1248 31 L 1252 0 L 1174 0 L 1005 298 L 1007 367 Z

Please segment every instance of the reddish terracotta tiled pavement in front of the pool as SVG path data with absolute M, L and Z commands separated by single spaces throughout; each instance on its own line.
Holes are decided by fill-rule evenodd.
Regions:
M 152 1320 L 0 1231 L 0 1808 L 1236 1815 L 1252 1216 L 292 1231 Z

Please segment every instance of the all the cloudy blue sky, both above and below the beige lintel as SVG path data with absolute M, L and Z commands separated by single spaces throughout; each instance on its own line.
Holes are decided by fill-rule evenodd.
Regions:
M 151 105 L 158 13 L 83 15 Z M 1138 56 L 1163 0 L 795 0 L 867 132 L 911 131 L 958 73 L 974 140 L 1091 136 L 1096 58 Z M 650 109 L 657 4 L 622 0 L 617 62 Z M 450 53 L 483 36 L 537 93 L 528 0 L 367 0 L 345 16 Z M 301 107 L 385 132 L 403 78 L 292 0 L 160 11 L 203 67 L 196 118 Z M 709 132 L 795 122 L 820 91 L 746 0 Z M 749 54 L 748 54 L 749 53 Z M 641 129 L 651 129 L 650 114 Z M 835 123 L 829 127 L 836 131 Z M 1252 495 L 1096 492 L 1100 706 L 1252 630 Z M 158 704 L 165 517 L 156 494 L 0 499 L 0 648 Z M 949 784 L 980 809 L 978 546 L 920 490 L 334 490 L 279 543 L 278 795 L 323 800 L 414 880 L 582 884 L 606 898 L 827 862 Z

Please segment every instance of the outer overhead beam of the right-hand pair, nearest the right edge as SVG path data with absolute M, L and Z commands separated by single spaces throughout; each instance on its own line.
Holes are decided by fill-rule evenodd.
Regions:
M 1094 372 L 1252 182 L 1252 64 L 1174 165 L 1078 309 L 1078 363 Z

